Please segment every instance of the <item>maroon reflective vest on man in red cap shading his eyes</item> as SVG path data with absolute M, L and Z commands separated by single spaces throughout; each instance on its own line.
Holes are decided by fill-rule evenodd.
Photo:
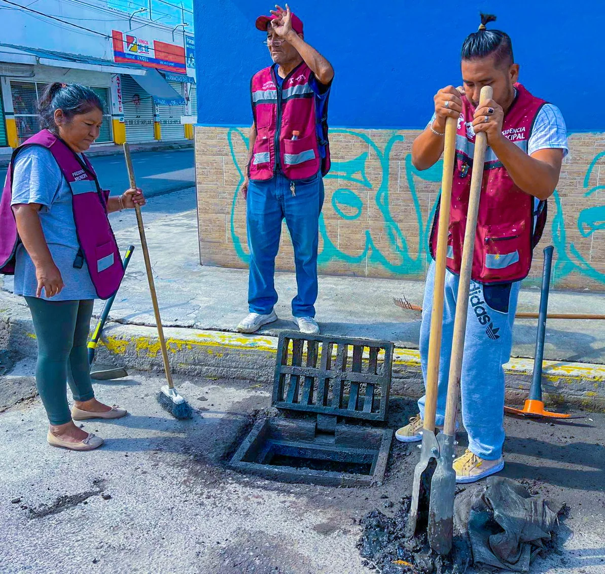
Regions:
M 252 77 L 250 91 L 257 139 L 248 167 L 250 179 L 273 177 L 276 149 L 281 171 L 290 180 L 312 177 L 320 169 L 322 175 L 330 171 L 327 102 L 324 117 L 318 118 L 315 93 L 309 84 L 312 73 L 302 62 L 281 86 L 275 81 L 273 67 Z

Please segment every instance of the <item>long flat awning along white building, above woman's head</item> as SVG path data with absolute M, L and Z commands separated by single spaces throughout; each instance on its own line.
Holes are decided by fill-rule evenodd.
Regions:
M 131 76 L 140 76 L 146 72 L 142 66 L 116 64 L 112 60 L 103 60 L 102 58 L 92 56 L 81 56 L 80 54 L 68 54 L 65 52 L 2 43 L 0 43 L 0 62 L 41 64 L 58 68 L 74 68 L 76 70 L 90 70 L 112 74 L 130 74 Z

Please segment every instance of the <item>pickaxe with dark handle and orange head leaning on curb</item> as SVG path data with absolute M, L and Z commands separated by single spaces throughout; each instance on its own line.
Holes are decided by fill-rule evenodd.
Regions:
M 545 411 L 542 400 L 542 360 L 544 358 L 544 339 L 546 336 L 546 311 L 548 310 L 548 293 L 551 287 L 552 252 L 554 247 L 549 245 L 544 250 L 544 266 L 542 268 L 542 289 L 540 292 L 540 313 L 538 331 L 535 336 L 534 373 L 532 374 L 529 398 L 522 409 L 505 406 L 505 414 L 513 414 L 530 419 L 583 419 L 583 416 L 572 416 L 564 413 Z

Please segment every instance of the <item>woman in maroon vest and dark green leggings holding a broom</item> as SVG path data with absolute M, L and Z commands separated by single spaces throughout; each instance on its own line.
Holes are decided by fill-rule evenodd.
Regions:
M 107 213 L 134 207 L 135 203 L 144 205 L 145 199 L 140 189 L 108 197 L 82 155 L 99 137 L 103 122 L 103 103 L 90 88 L 51 84 L 39 103 L 39 119 L 44 133 L 36 134 L 13 154 L 4 189 L 4 194 L 11 194 L 18 232 L 13 255 L 14 290 L 25 297 L 36 331 L 36 384 L 50 422 L 48 443 L 91 450 L 103 440 L 73 420 L 116 419 L 126 414 L 125 409 L 94 398 L 88 365 L 93 302 L 100 287 L 108 285 L 103 282 L 103 273 L 114 273 L 110 289 L 117 289 L 122 276 L 117 275 L 116 282 L 119 261 L 115 261 L 117 246 Z M 76 198 L 92 202 L 79 204 L 85 207 L 83 214 L 82 209 L 76 213 Z M 94 231 L 82 229 L 86 225 L 77 227 L 76 215 Z M 96 243 L 95 237 L 100 238 Z M 87 249 L 84 240 L 90 243 L 91 239 L 93 247 Z M 105 256 L 99 258 L 100 252 Z M 0 262 L 0 266 L 5 263 Z M 89 265 L 95 266 L 94 281 Z M 71 412 L 66 382 L 74 397 Z

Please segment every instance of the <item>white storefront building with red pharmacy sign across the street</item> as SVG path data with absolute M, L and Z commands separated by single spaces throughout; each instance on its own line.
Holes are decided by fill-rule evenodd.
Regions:
M 165 24 L 157 10 L 149 19 L 147 10 L 116 10 L 108 0 L 15 4 L 22 6 L 0 3 L 0 151 L 38 131 L 36 106 L 51 82 L 90 86 L 105 103 L 96 146 L 193 138 L 194 36 L 186 22 Z

